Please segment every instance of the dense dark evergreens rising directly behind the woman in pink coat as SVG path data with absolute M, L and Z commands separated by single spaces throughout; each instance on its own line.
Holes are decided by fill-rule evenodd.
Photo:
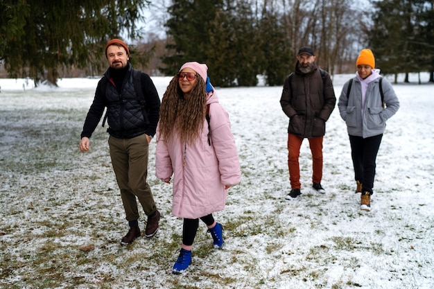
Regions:
M 216 86 L 257 85 L 260 51 L 249 1 L 173 1 L 168 12 L 166 75 L 195 60 L 207 63 Z

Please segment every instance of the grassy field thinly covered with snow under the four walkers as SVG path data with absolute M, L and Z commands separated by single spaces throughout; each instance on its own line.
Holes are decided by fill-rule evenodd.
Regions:
M 337 98 L 350 77 L 334 77 Z M 434 288 L 434 85 L 417 77 L 394 85 L 401 107 L 383 136 L 370 212 L 359 210 L 337 106 L 324 137 L 327 193 L 310 189 L 304 141 L 303 194 L 288 201 L 282 88 L 217 89 L 242 182 L 215 214 L 224 249 L 211 249 L 200 223 L 193 263 L 180 276 L 171 268 L 182 220 L 171 216 L 171 185 L 154 176 L 155 142 L 148 182 L 160 230 L 127 247 L 119 245 L 128 227 L 105 129 L 98 126 L 91 151 L 78 149 L 98 79 L 62 79 L 58 88 L 0 79 L 0 288 Z M 162 97 L 170 78 L 153 80 Z

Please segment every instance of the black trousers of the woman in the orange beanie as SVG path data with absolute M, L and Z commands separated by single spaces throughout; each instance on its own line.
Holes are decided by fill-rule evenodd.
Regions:
M 372 195 L 374 187 L 374 177 L 376 168 L 376 155 L 379 152 L 381 138 L 383 134 L 374 137 L 355 137 L 349 136 L 351 143 L 351 158 L 354 165 L 354 177 L 356 181 L 362 183 L 362 191 L 368 191 Z

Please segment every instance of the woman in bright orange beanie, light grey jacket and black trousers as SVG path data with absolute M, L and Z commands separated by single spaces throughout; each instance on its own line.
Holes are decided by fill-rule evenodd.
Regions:
M 376 155 L 385 122 L 399 109 L 399 100 L 390 82 L 380 76 L 380 69 L 375 68 L 370 49 L 363 49 L 358 55 L 356 68 L 356 76 L 342 87 L 338 107 L 347 124 L 356 193 L 361 193 L 361 210 L 370 211 Z

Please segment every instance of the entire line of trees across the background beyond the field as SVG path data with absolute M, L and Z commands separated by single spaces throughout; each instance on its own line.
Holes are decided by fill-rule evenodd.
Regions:
M 107 40 L 139 40 L 140 12 L 150 5 L 3 0 L 0 60 L 11 77 L 35 81 L 55 82 L 74 67 L 101 75 Z M 151 75 L 173 76 L 194 60 L 207 63 L 215 86 L 254 86 L 257 75 L 272 86 L 295 69 L 301 46 L 311 46 L 331 74 L 353 73 L 358 52 L 370 48 L 383 74 L 429 71 L 434 82 L 433 6 L 422 0 L 173 0 L 162 25 L 166 37 L 135 42 L 131 61 Z

